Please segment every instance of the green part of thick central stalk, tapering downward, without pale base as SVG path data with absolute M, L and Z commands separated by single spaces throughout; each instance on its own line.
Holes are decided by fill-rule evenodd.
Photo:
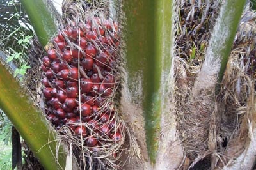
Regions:
M 128 87 L 133 96 L 140 86 L 148 155 L 156 161 L 172 49 L 172 1 L 124 1 Z M 164 77 L 166 76 L 166 77 Z M 164 81 L 162 81 L 164 79 Z M 164 96 L 166 97 L 166 96 Z M 136 113 L 134 113 L 136 114 Z

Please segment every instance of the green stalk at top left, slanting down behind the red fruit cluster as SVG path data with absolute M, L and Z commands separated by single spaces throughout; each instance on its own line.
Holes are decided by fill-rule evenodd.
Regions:
M 20 0 L 23 8 L 28 14 L 29 20 L 35 29 L 38 40 L 45 46 L 50 38 L 56 33 L 57 27 L 53 16 L 47 10 L 44 0 Z

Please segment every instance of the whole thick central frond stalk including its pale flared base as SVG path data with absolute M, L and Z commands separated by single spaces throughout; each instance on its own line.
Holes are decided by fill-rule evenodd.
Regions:
M 124 1 L 126 80 L 122 107 L 134 127 L 147 168 L 155 164 L 156 168 L 175 169 L 183 158 L 170 98 L 174 8 L 170 0 Z

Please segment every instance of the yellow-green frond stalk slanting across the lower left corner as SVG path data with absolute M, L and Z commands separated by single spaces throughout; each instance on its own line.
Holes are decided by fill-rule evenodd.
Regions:
M 12 121 L 45 169 L 65 168 L 65 153 L 60 146 L 56 162 L 56 131 L 52 130 L 42 112 L 29 102 L 19 83 L 0 63 L 0 107 Z

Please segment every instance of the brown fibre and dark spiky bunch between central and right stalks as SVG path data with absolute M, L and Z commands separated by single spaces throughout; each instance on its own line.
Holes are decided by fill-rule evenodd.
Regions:
M 205 49 L 220 3 L 218 1 L 179 1 L 177 57 L 175 59 L 178 130 L 186 157 L 194 160 L 207 151 L 211 116 L 209 105 L 197 98 L 191 101 L 191 88 L 204 61 Z M 209 98 L 212 98 L 210 95 Z M 197 112 L 190 111 L 191 106 Z

